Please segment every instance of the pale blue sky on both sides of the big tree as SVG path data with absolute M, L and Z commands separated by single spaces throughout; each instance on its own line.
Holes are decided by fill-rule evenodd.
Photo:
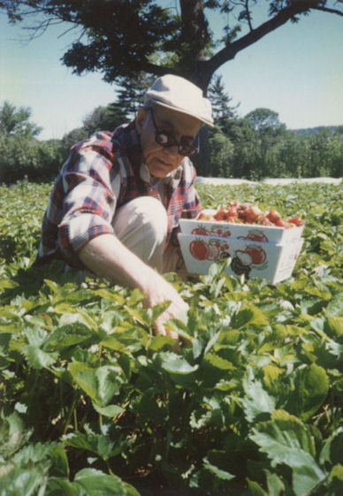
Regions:
M 168 2 L 169 3 L 169 2 Z M 220 19 L 213 18 L 216 31 Z M 61 138 L 98 105 L 116 100 L 100 73 L 76 76 L 62 65 L 75 34 L 51 27 L 24 43 L 20 27 L 0 14 L 0 104 L 30 107 L 39 139 Z M 240 116 L 258 107 L 277 111 L 288 129 L 343 125 L 343 19 L 313 12 L 288 23 L 223 65 L 225 90 Z

